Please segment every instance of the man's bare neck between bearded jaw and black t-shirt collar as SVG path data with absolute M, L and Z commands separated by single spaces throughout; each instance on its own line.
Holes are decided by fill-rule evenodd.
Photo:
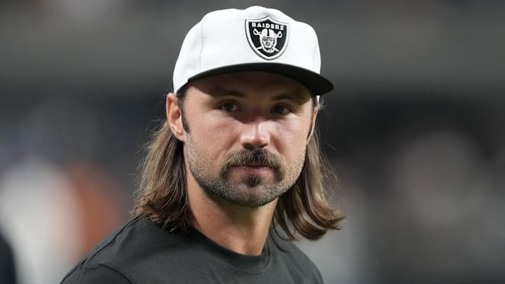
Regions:
M 259 208 L 211 198 L 191 178 L 188 197 L 193 226 L 215 243 L 242 255 L 261 255 L 277 200 Z

